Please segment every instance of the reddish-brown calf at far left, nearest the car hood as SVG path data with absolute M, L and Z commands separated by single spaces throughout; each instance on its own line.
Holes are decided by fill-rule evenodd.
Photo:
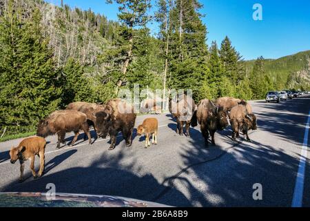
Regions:
M 34 178 L 41 177 L 44 171 L 44 152 L 45 152 L 46 141 L 43 137 L 28 137 L 25 138 L 19 146 L 12 147 L 10 150 L 11 163 L 14 164 L 19 160 L 21 164 L 21 175 L 19 181 L 23 181 L 23 169 L 25 168 L 24 162 L 30 160 L 30 169 Z M 35 155 L 40 157 L 40 169 L 38 175 L 34 171 L 34 158 Z

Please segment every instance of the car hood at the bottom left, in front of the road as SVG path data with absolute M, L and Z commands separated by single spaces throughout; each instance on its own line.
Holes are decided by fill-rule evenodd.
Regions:
M 0 193 L 0 207 L 166 207 L 165 204 L 147 202 L 110 195 L 55 193 Z

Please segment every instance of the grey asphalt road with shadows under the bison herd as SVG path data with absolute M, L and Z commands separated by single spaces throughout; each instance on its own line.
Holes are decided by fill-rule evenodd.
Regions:
M 83 134 L 75 146 L 56 149 L 56 137 L 47 137 L 45 174 L 34 180 L 29 162 L 23 183 L 17 182 L 19 163 L 10 164 L 9 150 L 22 139 L 0 143 L 0 191 L 45 192 L 54 183 L 59 193 L 118 195 L 172 206 L 291 206 L 310 95 L 286 102 L 251 102 L 258 130 L 247 142 L 230 139 L 230 127 L 216 133 L 216 146 L 205 148 L 199 127 L 191 137 L 180 137 L 169 115 L 156 115 L 158 145 L 144 148 L 144 137 L 134 133 L 130 148 L 119 136 L 108 151 L 108 140 L 89 145 Z M 136 126 L 145 117 L 138 116 Z M 154 117 L 155 115 L 152 115 Z M 67 142 L 73 133 L 67 134 Z M 39 157 L 36 158 L 38 169 Z M 304 176 L 303 206 L 310 206 L 309 153 Z M 262 200 L 254 200 L 253 185 L 262 185 Z

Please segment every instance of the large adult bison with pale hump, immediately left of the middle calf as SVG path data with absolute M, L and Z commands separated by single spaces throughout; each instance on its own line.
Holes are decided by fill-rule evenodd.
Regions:
M 132 131 L 136 121 L 133 108 L 121 99 L 111 99 L 105 105 L 105 109 L 94 113 L 97 135 L 107 137 L 110 135 L 111 145 L 109 150 L 116 146 L 116 135 L 119 131 L 123 133 L 126 146 L 132 145 Z

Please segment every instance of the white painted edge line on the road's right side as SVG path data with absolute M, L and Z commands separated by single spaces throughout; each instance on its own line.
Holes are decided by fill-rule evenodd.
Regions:
M 302 149 L 300 153 L 300 161 L 298 166 L 298 172 L 296 176 L 295 189 L 293 193 L 293 200 L 291 207 L 302 207 L 302 196 L 304 193 L 304 173 L 306 171 L 307 162 L 307 146 L 308 146 L 308 135 L 309 135 L 309 123 L 310 123 L 310 111 L 308 114 L 306 128 L 304 130 L 304 141 L 302 142 Z

